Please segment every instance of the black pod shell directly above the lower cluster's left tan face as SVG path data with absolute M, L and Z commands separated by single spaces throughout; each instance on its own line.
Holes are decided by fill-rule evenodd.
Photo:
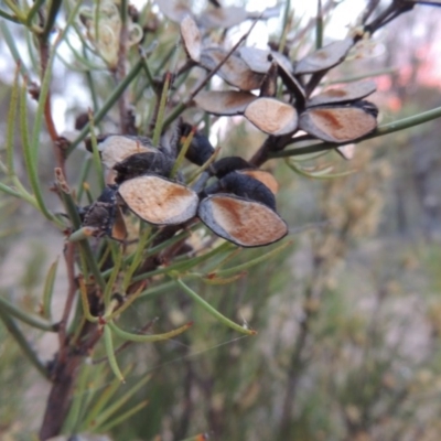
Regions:
M 115 182 L 120 184 L 146 173 L 169 176 L 173 164 L 173 159 L 158 149 L 154 152 L 136 153 L 114 165 L 114 170 L 118 173 Z

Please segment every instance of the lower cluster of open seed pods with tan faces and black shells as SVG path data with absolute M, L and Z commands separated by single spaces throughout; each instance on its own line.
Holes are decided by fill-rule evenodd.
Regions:
M 192 130 L 182 123 L 181 139 Z M 86 141 L 92 150 L 92 142 Z M 258 247 L 284 237 L 288 227 L 276 209 L 278 184 L 263 170 L 239 157 L 213 162 L 193 187 L 181 174 L 171 178 L 173 149 L 154 148 L 148 138 L 108 135 L 98 139 L 103 163 L 115 173 L 93 204 L 80 208 L 82 227 L 93 236 L 125 238 L 121 208 L 157 226 L 202 220 L 214 234 L 241 247 Z M 203 165 L 214 153 L 208 139 L 194 132 L 186 159 Z

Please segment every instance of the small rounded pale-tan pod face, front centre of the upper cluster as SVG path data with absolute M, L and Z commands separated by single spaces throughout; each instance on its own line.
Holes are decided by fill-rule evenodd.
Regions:
M 245 109 L 245 117 L 259 130 L 273 136 L 288 135 L 298 127 L 297 110 L 276 98 L 258 98 Z

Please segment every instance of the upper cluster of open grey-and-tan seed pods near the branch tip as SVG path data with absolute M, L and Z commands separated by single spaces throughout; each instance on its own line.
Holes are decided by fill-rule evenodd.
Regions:
M 243 115 L 275 137 L 303 130 L 311 138 L 338 144 L 376 129 L 378 110 L 364 100 L 376 90 L 375 83 L 352 83 L 313 96 L 323 76 L 345 61 L 358 35 L 334 41 L 292 61 L 272 49 L 244 46 L 230 54 L 220 45 L 204 45 L 204 32 L 203 24 L 191 15 L 181 21 L 189 58 L 207 71 L 216 69 L 226 60 L 216 74 L 235 89 L 201 92 L 194 101 L 203 110 L 220 116 Z M 280 86 L 282 94 L 278 94 Z

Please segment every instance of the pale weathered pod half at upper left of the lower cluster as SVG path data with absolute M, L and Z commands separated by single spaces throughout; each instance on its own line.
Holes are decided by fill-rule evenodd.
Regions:
M 86 149 L 92 152 L 92 140 L 85 141 Z M 135 153 L 158 152 L 147 137 L 132 137 L 128 135 L 101 135 L 97 137 L 97 147 L 103 163 L 108 168 L 114 168 L 118 162 Z

